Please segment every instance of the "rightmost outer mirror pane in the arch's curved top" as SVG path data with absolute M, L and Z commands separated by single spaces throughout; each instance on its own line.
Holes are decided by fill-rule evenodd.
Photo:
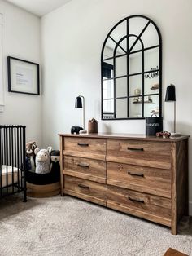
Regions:
M 144 44 L 144 48 L 159 45 L 159 35 L 154 24 L 149 24 L 146 31 L 142 34 L 141 39 Z

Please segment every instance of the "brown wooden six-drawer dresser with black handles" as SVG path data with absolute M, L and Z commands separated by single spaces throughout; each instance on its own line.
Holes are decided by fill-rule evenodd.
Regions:
M 188 215 L 188 138 L 60 137 L 61 195 L 171 227 Z

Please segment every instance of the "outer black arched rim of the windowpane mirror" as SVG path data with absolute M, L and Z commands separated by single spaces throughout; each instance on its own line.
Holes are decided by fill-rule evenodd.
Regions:
M 112 33 L 112 31 L 114 29 L 116 29 L 116 27 L 121 24 L 124 21 L 127 21 L 127 23 L 129 22 L 129 19 L 132 18 L 144 18 L 146 20 L 148 20 L 151 24 L 153 24 L 155 26 L 155 29 L 158 33 L 159 36 L 159 117 L 162 117 L 162 37 L 161 37 L 161 33 L 160 30 L 158 28 L 158 26 L 155 24 L 155 22 L 153 20 L 151 20 L 150 18 L 146 17 L 145 15 L 130 15 L 126 18 L 124 18 L 123 20 L 120 20 L 111 30 L 110 32 L 107 34 L 107 38 L 105 39 L 105 41 L 103 42 L 103 48 L 102 48 L 102 53 L 101 53 L 101 119 L 103 121 L 108 121 L 108 120 L 142 120 L 145 119 L 146 117 L 143 117 L 143 106 L 142 106 L 142 117 L 124 117 L 124 118 L 116 118 L 116 117 L 110 117 L 110 118 L 103 118 L 103 52 L 104 52 L 104 48 L 106 46 L 107 43 L 107 39 L 109 38 L 110 34 Z M 128 34 L 127 34 L 128 37 Z M 127 38 L 126 37 L 126 38 Z M 144 82 L 142 82 L 144 83 Z M 144 94 L 142 92 L 142 97 L 144 97 Z M 143 103 L 144 104 L 144 103 Z

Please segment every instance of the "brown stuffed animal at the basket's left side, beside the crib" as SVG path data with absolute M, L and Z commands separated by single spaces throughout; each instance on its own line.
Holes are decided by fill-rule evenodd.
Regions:
M 26 143 L 26 166 L 27 170 L 35 172 L 35 149 L 37 144 L 35 141 Z

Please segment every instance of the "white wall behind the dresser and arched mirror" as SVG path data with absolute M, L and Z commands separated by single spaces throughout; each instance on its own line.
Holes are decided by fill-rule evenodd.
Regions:
M 59 132 L 68 133 L 71 126 L 81 126 L 81 109 L 74 108 L 77 95 L 85 96 L 86 123 L 95 117 L 99 131 L 145 133 L 145 121 L 100 120 L 100 55 L 103 41 L 119 20 L 135 14 L 150 17 L 161 30 L 163 102 L 166 86 L 175 84 L 177 131 L 192 135 L 191 10 L 191 0 L 72 0 L 44 16 L 41 28 L 44 144 L 50 143 L 57 148 Z M 164 130 L 170 130 L 172 104 L 164 103 L 163 107 Z M 190 155 L 191 150 L 190 139 Z

